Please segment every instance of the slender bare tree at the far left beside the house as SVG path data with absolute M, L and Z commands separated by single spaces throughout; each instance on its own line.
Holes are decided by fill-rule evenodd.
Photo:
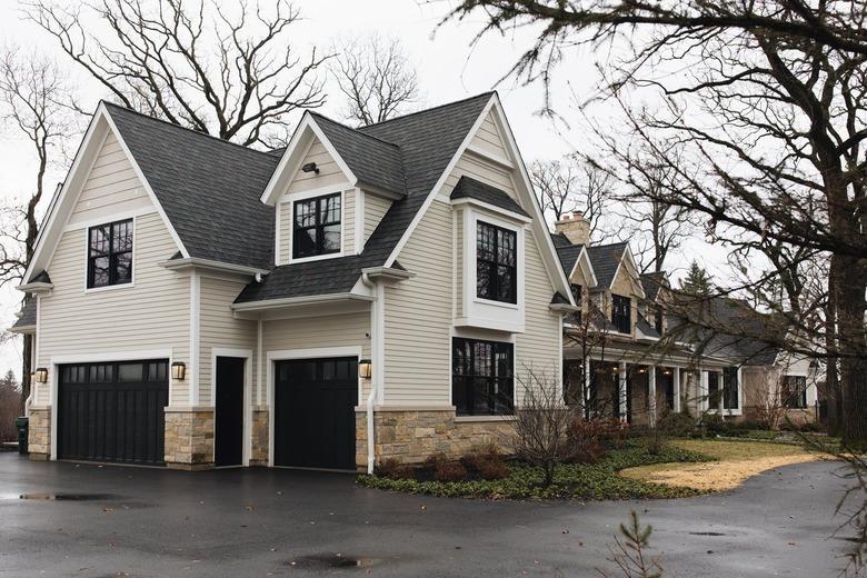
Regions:
M 0 207 L 0 286 L 21 280 L 39 233 L 37 210 L 46 191 L 46 172 L 63 160 L 64 144 L 78 132 L 80 110 L 56 62 L 9 47 L 0 56 L 0 118 L 32 147 L 37 170 L 24 202 Z M 59 158 L 58 158 L 59 157 Z M 21 402 L 30 395 L 30 336 L 23 340 Z

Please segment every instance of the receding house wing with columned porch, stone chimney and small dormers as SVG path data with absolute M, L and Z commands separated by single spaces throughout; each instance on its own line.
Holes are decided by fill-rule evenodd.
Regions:
M 755 337 L 720 331 L 702 342 L 680 331 L 668 312 L 674 293 L 664 272 L 640 275 L 628 243 L 591 245 L 581 213 L 555 227 L 554 243 L 581 307 L 564 329 L 568 402 L 635 425 L 652 425 L 664 410 L 755 420 L 760 403 L 773 402 L 787 406 L 795 421 L 816 419 L 809 359 L 785 356 Z M 716 327 L 768 337 L 775 330 L 768 316 L 739 301 L 714 298 L 708 309 Z

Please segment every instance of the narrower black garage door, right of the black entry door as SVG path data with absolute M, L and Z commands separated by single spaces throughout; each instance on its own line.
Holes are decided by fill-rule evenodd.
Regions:
M 275 465 L 355 469 L 358 359 L 280 361 L 276 376 Z

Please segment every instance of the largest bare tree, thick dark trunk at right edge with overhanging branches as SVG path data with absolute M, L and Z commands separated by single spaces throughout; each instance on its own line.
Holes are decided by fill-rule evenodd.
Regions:
M 829 382 L 839 367 L 844 437 L 867 445 L 865 2 L 466 0 L 450 18 L 477 9 L 482 34 L 542 24 L 511 69 L 524 81 L 549 82 L 564 50 L 631 39 L 602 69 L 628 138 L 598 127 L 607 158 L 622 166 L 652 150 L 689 186 L 646 197 L 700 216 L 714 239 L 770 239 L 830 261 L 824 307 L 834 321 L 799 339 L 835 360 Z M 631 104 L 630 90 L 659 106 Z

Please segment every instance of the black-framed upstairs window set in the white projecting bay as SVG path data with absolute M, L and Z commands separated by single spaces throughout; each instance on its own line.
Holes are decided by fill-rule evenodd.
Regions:
M 476 230 L 476 296 L 518 302 L 517 233 L 487 222 Z

